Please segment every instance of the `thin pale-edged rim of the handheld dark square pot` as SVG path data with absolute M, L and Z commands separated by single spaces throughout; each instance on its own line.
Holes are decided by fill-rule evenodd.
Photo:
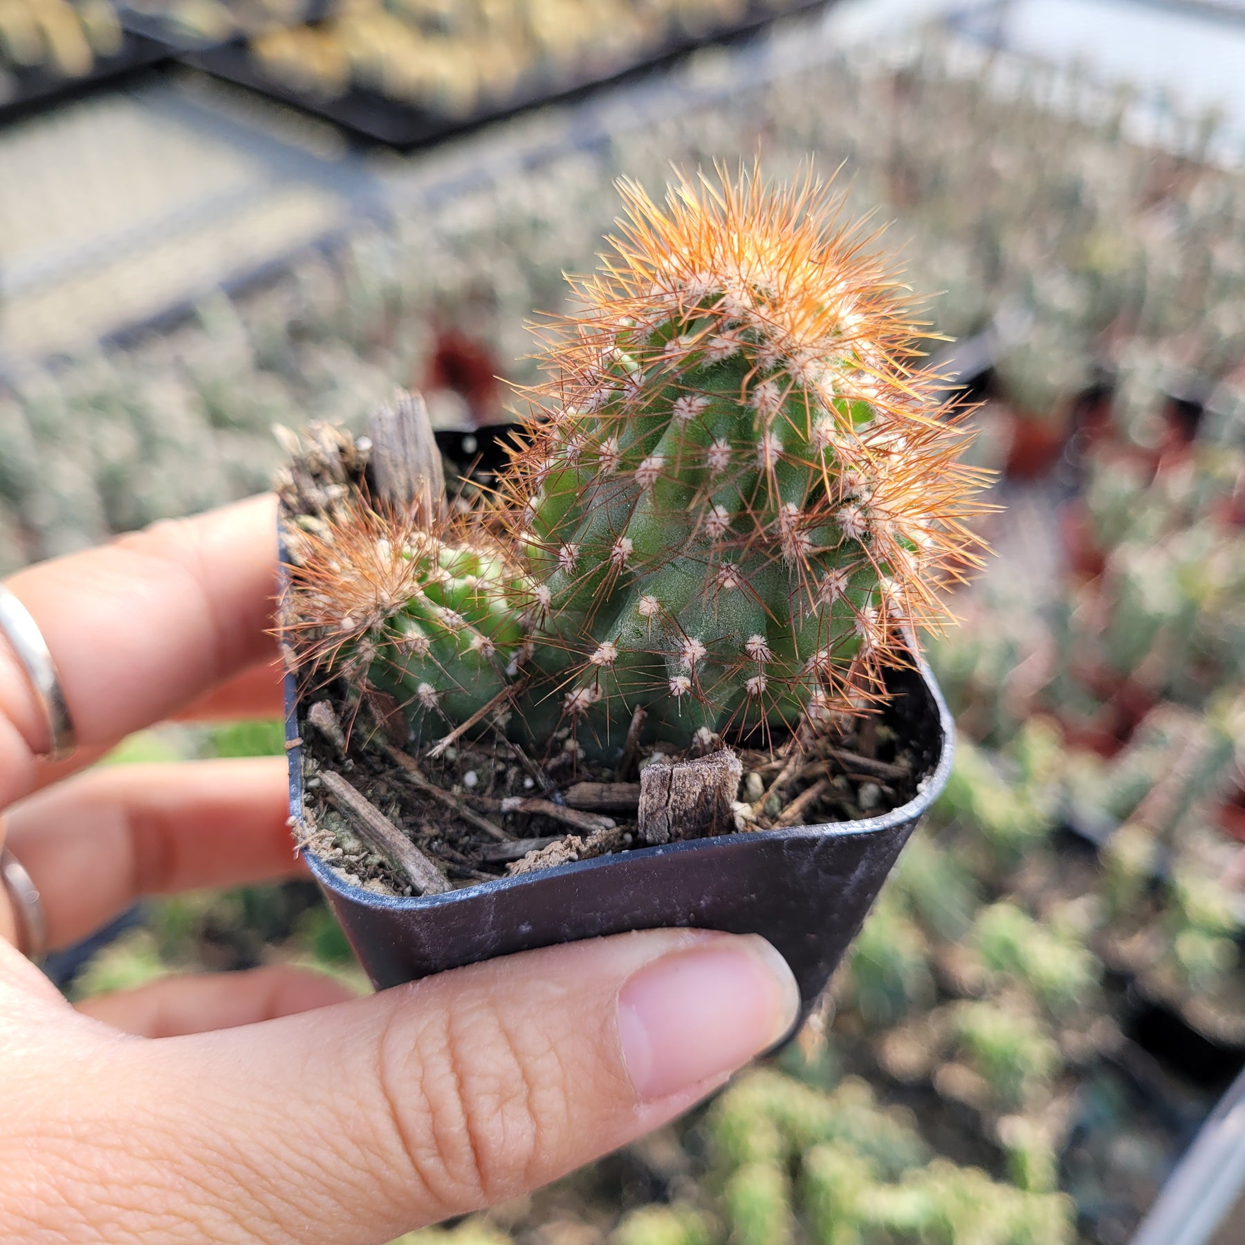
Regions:
M 676 852 L 697 852 L 708 845 L 726 847 L 730 844 L 758 843 L 776 839 L 804 839 L 804 838 L 829 838 L 832 835 L 873 834 L 879 830 L 889 830 L 896 825 L 914 823 L 941 794 L 942 788 L 951 773 L 951 762 L 955 753 L 955 730 L 950 710 L 942 698 L 942 691 L 934 679 L 929 664 L 913 645 L 913 667 L 925 686 L 933 701 L 934 711 L 937 716 L 937 730 L 941 736 L 937 759 L 934 767 L 919 781 L 916 796 L 878 817 L 867 817 L 855 822 L 822 822 L 815 825 L 789 825 L 773 830 L 747 830 L 735 834 L 718 834 L 712 838 L 687 839 L 679 843 L 667 843 L 660 847 L 631 848 L 627 852 L 616 852 L 610 855 L 595 857 L 591 860 L 574 860 L 569 864 L 553 865 L 537 873 L 519 874 L 513 878 L 494 878 L 489 881 L 478 881 L 469 886 L 459 886 L 456 890 L 447 890 L 439 895 L 377 895 L 375 891 L 365 890 L 352 883 L 345 881 L 341 875 L 327 862 L 321 860 L 314 852 L 300 848 L 303 859 L 308 863 L 316 880 L 331 888 L 337 894 L 349 899 L 354 904 L 377 910 L 421 910 L 442 908 L 448 904 L 467 903 L 481 895 L 499 894 L 519 886 L 530 885 L 544 878 L 558 875 L 583 874 L 593 869 L 608 869 L 611 865 L 626 863 L 641 858 L 656 858 L 670 855 Z M 303 747 L 298 726 L 298 680 L 293 671 L 285 674 L 285 749 L 289 762 L 289 792 L 290 814 L 294 824 L 305 835 L 308 824 L 303 815 Z

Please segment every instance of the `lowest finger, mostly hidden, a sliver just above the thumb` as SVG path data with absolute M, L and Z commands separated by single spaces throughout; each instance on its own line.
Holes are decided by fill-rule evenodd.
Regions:
M 354 997 L 354 991 L 324 974 L 278 965 L 166 977 L 137 990 L 86 998 L 77 1010 L 139 1037 L 182 1037 L 294 1016 Z

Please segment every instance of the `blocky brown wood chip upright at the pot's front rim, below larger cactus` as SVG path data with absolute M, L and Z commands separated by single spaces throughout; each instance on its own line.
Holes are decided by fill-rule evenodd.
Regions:
M 735 830 L 735 794 L 743 767 L 730 749 L 640 771 L 640 835 L 646 843 L 702 839 Z

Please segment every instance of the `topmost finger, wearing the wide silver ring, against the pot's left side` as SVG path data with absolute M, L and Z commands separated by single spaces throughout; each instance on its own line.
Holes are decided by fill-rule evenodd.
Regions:
M 251 498 L 7 581 L 47 641 L 80 745 L 112 743 L 275 654 L 275 522 L 274 499 Z M 34 789 L 47 743 L 30 681 L 0 645 L 0 807 Z

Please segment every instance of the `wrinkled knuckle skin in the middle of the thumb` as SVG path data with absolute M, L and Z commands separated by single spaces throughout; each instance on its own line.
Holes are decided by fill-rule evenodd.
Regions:
M 408 1168 L 441 1214 L 527 1189 L 565 1132 L 558 1045 L 487 997 L 451 1003 L 413 1041 L 408 1026 L 391 1023 L 380 1069 Z

